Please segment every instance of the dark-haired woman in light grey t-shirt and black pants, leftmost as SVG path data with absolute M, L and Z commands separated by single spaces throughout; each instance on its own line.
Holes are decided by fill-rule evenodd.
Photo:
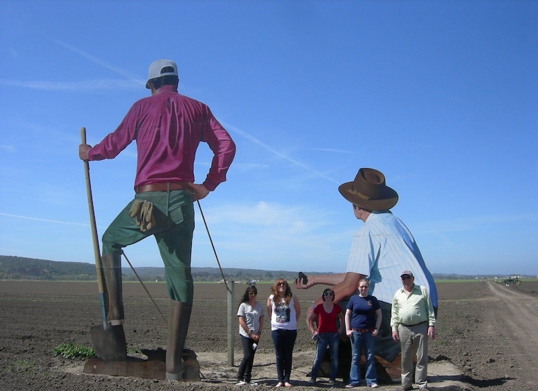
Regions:
M 262 303 L 256 301 L 257 296 L 258 289 L 255 285 L 249 285 L 244 291 L 241 304 L 237 309 L 239 335 L 243 348 L 243 359 L 237 371 L 237 385 L 258 385 L 258 383 L 251 382 L 254 354 L 262 334 L 264 316 Z

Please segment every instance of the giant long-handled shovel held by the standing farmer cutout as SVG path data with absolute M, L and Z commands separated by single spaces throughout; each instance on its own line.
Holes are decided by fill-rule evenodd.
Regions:
M 86 144 L 86 128 L 80 128 L 80 139 Z M 93 239 L 93 254 L 96 260 L 97 282 L 99 286 L 99 302 L 101 305 L 102 325 L 90 327 L 93 349 L 97 358 L 102 361 L 125 361 L 127 359 L 127 343 L 123 325 L 112 326 L 107 322 L 105 311 L 105 284 L 103 284 L 101 255 L 99 251 L 99 239 L 97 236 L 96 215 L 93 211 L 93 198 L 91 197 L 91 183 L 89 176 L 89 163 L 84 161 L 84 174 L 86 176 L 86 194 L 90 216 L 91 237 Z

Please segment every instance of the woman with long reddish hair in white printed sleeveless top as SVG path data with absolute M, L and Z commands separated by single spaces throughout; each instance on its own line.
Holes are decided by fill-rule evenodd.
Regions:
M 276 387 L 292 387 L 289 376 L 292 372 L 292 357 L 297 338 L 297 319 L 301 316 L 301 305 L 283 278 L 276 280 L 267 299 L 267 313 L 271 317 L 271 338 L 275 345 Z

